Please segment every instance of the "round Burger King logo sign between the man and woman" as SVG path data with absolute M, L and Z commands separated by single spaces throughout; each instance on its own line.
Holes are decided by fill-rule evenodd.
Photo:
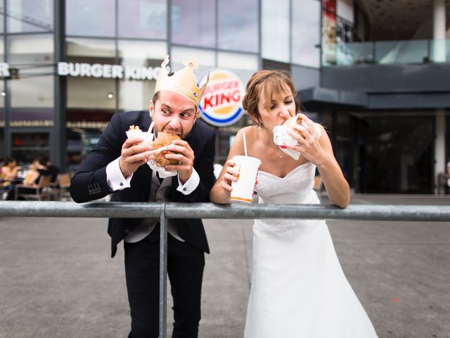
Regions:
M 199 83 L 202 83 L 202 80 Z M 200 101 L 200 115 L 212 125 L 219 127 L 232 125 L 244 112 L 242 108 L 244 95 L 243 84 L 234 73 L 223 69 L 211 70 L 210 82 Z

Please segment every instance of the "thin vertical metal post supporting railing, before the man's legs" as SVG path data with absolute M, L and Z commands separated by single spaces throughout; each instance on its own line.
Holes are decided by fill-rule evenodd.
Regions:
M 160 338 L 166 338 L 167 327 L 167 218 L 166 204 L 160 217 Z

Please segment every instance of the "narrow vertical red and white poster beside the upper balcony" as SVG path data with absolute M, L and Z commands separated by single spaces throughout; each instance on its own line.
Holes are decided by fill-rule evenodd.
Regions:
M 322 65 L 336 62 L 336 0 L 322 0 Z

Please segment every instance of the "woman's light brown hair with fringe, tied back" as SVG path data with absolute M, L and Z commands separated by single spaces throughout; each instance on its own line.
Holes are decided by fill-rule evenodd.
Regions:
M 242 101 L 243 108 L 257 120 L 260 125 L 261 118 L 258 111 L 259 96 L 264 98 L 265 108 L 270 111 L 272 96 L 281 96 L 286 91 L 286 86 L 294 96 L 295 112 L 300 111 L 300 102 L 297 100 L 293 79 L 288 72 L 283 70 L 258 70 L 250 77 L 247 83 Z

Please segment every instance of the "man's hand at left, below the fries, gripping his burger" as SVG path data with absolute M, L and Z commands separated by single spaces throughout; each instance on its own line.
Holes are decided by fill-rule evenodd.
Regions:
M 122 175 L 128 177 L 141 165 L 147 163 L 151 149 L 150 144 L 143 142 L 141 137 L 127 139 L 120 152 L 119 167 Z

